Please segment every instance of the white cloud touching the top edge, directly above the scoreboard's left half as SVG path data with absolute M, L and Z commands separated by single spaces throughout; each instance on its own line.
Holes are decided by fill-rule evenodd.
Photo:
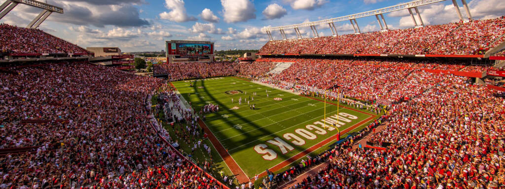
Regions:
M 183 0 L 165 0 L 165 7 L 170 10 L 170 12 L 160 13 L 160 18 L 163 20 L 170 20 L 174 22 L 187 22 L 197 20 L 193 16 L 187 15 Z

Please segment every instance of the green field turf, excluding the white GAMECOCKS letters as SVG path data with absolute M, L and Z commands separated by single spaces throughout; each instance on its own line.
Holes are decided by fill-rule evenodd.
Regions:
M 208 128 L 211 130 L 209 132 L 212 132 L 217 140 L 219 140 L 219 146 L 222 145 L 222 148 L 229 151 L 234 162 L 237 163 L 239 168 L 242 169 L 246 175 L 250 176 L 261 173 L 265 169 L 278 166 L 280 163 L 288 159 L 292 159 L 295 156 L 296 159 L 298 159 L 300 158 L 297 156 L 298 154 L 305 152 L 307 149 L 312 148 L 323 141 L 334 138 L 337 130 L 331 131 L 330 134 L 318 135 L 318 137 L 314 140 L 305 140 L 305 145 L 293 146 L 294 149 L 285 154 L 280 153 L 280 149 L 277 146 L 267 142 L 270 140 L 268 137 L 279 137 L 284 140 L 284 133 L 297 135 L 296 133 L 293 133 L 295 130 L 307 129 L 305 126 L 314 124 L 313 122 L 315 121 L 323 122 L 321 121 L 324 109 L 323 104 L 320 104 L 320 101 L 311 98 L 302 99 L 304 96 L 292 94 L 284 90 L 272 89 L 269 86 L 238 80 L 240 79 L 226 78 L 212 81 L 197 81 L 193 83 L 195 84 L 193 88 L 187 87 L 187 83 L 174 82 L 174 84 L 179 89 L 182 89 L 180 90 L 181 95 L 183 95 L 184 98 L 189 99 L 193 107 L 199 109 L 200 106 L 207 104 L 206 101 L 220 106 L 220 111 L 206 114 L 206 123 Z M 236 84 L 232 85 L 230 83 Z M 186 85 L 186 87 L 184 85 Z M 191 90 L 195 92 L 192 92 Z M 225 91 L 228 90 L 240 90 L 243 91 L 243 93 L 228 95 L 225 93 Z M 268 93 L 269 97 L 266 97 L 266 94 L 263 93 L 265 90 L 272 91 Z M 245 91 L 247 94 L 245 94 Z M 259 108 L 257 110 L 249 110 L 247 109 L 248 105 L 246 104 L 248 100 L 247 97 L 248 95 L 252 97 L 252 94 L 255 91 L 259 94 L 259 96 L 255 96 L 255 102 L 258 102 L 256 103 L 256 106 Z M 189 95 L 189 93 L 191 94 Z M 195 95 L 194 93 L 198 94 Z M 201 96 L 203 96 L 204 99 L 201 99 Z M 238 97 L 242 97 L 242 102 L 245 101 L 245 103 L 238 105 L 236 101 Z M 275 101 L 273 100 L 275 97 L 283 98 L 283 100 Z M 234 98 L 234 103 L 231 102 L 231 98 Z M 296 100 L 291 100 L 291 98 Z M 310 105 L 307 103 L 310 103 Z M 232 109 L 233 106 L 238 106 L 239 109 Z M 335 107 L 336 106 L 331 105 L 330 111 L 328 111 L 327 107 L 327 116 L 334 115 L 336 113 L 336 109 L 339 109 L 341 112 L 347 112 L 358 116 L 357 119 L 352 119 L 351 122 L 339 127 L 340 131 L 348 131 L 347 128 L 349 127 L 354 128 L 357 123 L 365 120 L 364 118 L 367 118 L 368 116 L 361 112 L 357 112 L 354 108 L 344 109 L 342 107 Z M 223 114 L 227 115 L 223 116 Z M 288 119 L 285 120 L 286 118 Z M 264 127 L 265 125 L 267 126 Z M 360 127 L 363 127 L 363 124 L 361 124 Z M 329 131 L 330 128 L 326 128 L 326 130 Z M 312 131 L 311 133 L 314 132 Z M 317 135 L 317 133 L 315 134 Z M 230 137 L 234 138 L 227 139 Z M 286 142 L 289 143 L 289 141 Z M 276 158 L 271 161 L 262 158 L 262 155 L 259 155 L 258 151 L 255 151 L 255 146 L 258 144 L 268 145 L 268 149 L 272 149 L 277 152 Z M 311 152 L 319 153 L 321 150 L 323 149 L 317 149 L 316 151 L 313 149 Z M 279 167 L 277 167 L 277 169 L 279 169 Z

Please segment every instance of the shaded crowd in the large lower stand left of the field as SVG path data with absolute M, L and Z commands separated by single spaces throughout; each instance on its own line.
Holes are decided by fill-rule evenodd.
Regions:
M 5 69 L 0 147 L 37 150 L 0 156 L 0 188 L 219 187 L 151 127 L 162 80 L 85 62 Z

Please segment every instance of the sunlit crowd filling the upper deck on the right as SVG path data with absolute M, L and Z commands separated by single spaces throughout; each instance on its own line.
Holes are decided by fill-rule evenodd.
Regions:
M 363 34 L 269 41 L 261 54 L 481 54 L 505 41 L 505 17 Z

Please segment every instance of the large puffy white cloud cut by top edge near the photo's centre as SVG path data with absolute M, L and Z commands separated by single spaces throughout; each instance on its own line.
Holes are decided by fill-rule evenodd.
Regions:
M 256 19 L 256 8 L 249 0 L 221 0 L 221 5 L 227 23 Z

